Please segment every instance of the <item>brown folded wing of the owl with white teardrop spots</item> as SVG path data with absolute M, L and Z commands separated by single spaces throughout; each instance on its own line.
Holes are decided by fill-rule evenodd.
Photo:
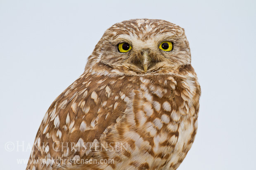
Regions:
M 66 88 L 43 118 L 27 169 L 68 166 L 70 160 L 91 158 L 85 145 L 102 140 L 126 109 L 122 96 L 133 84 L 125 82 L 126 77 L 84 73 Z

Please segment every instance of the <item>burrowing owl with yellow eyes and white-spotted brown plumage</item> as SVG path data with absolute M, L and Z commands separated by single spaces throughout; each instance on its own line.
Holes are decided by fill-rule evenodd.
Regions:
M 27 170 L 174 170 L 197 132 L 200 86 L 184 29 L 135 19 L 107 29 L 52 103 Z

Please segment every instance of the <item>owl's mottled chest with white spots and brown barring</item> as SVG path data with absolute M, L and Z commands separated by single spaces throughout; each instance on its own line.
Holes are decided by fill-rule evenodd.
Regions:
M 151 159 L 148 163 L 159 166 L 185 158 L 183 151 L 191 147 L 195 120 L 189 114 L 189 101 L 177 92 L 183 89 L 175 90 L 170 85 L 141 84 L 130 93 L 125 118 L 116 128 L 121 129 L 122 141 L 133 157 Z

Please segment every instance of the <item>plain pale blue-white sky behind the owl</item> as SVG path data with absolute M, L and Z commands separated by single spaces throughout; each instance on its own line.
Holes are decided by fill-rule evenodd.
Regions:
M 0 165 L 25 169 L 40 123 L 104 31 L 136 18 L 185 28 L 201 85 L 198 131 L 178 170 L 251 170 L 256 160 L 256 2 L 0 0 Z M 14 151 L 5 144 L 14 142 Z M 28 149 L 29 150 L 29 149 Z

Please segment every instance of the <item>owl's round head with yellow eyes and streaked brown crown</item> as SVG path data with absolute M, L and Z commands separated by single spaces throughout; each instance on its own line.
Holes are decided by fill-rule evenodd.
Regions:
M 190 65 L 183 28 L 164 20 L 133 19 L 106 30 L 85 67 L 89 72 L 119 75 L 165 74 Z

